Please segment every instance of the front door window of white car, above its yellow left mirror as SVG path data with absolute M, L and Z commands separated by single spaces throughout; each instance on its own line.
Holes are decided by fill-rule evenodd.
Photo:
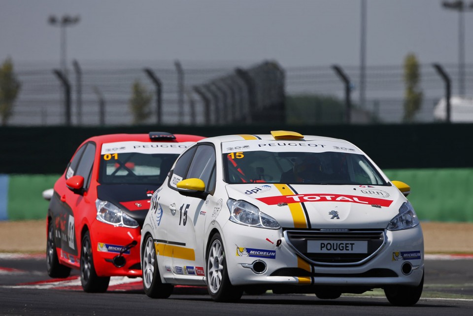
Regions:
M 186 178 L 199 178 L 205 183 L 205 190 L 211 189 L 210 177 L 215 166 L 215 149 L 210 145 L 199 145 Z

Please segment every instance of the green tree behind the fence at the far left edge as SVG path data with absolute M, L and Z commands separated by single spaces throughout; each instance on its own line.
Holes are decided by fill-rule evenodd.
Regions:
M 20 92 L 21 83 L 16 79 L 13 72 L 13 62 L 7 58 L 0 66 L 0 115 L 1 125 L 5 126 L 13 113 L 18 92 Z

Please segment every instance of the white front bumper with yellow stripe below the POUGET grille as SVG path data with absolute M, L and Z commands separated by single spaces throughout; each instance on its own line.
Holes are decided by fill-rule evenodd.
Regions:
M 366 288 L 417 286 L 424 271 L 420 225 L 402 231 L 385 231 L 384 242 L 375 254 L 355 264 L 317 264 L 307 260 L 285 239 L 282 229 L 253 228 L 228 222 L 222 236 L 229 278 L 234 285 L 259 284 L 268 288 L 279 284 Z

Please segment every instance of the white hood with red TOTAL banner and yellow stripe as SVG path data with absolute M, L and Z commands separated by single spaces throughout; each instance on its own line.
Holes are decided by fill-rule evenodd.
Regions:
M 229 184 L 228 196 L 247 201 L 283 228 L 384 229 L 407 201 L 395 186 Z

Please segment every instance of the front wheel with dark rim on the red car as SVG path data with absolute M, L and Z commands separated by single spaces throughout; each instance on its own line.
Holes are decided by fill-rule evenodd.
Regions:
M 85 292 L 103 293 L 108 288 L 110 277 L 99 277 L 94 267 L 92 256 L 92 243 L 90 233 L 87 231 L 82 237 L 80 250 L 80 283 Z

